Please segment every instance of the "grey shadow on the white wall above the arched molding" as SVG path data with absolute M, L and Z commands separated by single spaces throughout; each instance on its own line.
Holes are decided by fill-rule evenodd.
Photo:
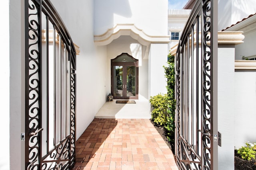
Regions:
M 95 35 L 101 35 L 114 26 L 114 14 L 131 18 L 132 11 L 128 0 L 95 0 L 94 29 Z

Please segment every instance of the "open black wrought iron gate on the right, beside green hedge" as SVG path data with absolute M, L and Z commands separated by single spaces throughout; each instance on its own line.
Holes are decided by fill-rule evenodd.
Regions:
M 176 163 L 218 169 L 218 1 L 197 0 L 176 53 Z

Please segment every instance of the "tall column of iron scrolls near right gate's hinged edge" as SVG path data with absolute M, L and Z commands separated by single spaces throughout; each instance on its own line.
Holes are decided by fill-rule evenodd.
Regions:
M 210 10 L 211 10 L 211 1 L 210 0 L 203 0 L 202 1 L 202 23 L 203 25 L 203 45 L 202 45 L 202 64 L 203 64 L 203 169 L 210 170 L 210 135 L 211 129 L 211 111 L 210 111 L 210 104 L 211 104 L 211 51 L 210 51 L 210 26 L 211 26 L 211 18 L 210 18 Z

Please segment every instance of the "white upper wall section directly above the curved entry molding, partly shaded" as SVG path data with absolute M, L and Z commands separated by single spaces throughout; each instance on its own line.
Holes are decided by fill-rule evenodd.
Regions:
M 148 35 L 167 35 L 168 0 L 94 0 L 94 34 L 134 23 Z

